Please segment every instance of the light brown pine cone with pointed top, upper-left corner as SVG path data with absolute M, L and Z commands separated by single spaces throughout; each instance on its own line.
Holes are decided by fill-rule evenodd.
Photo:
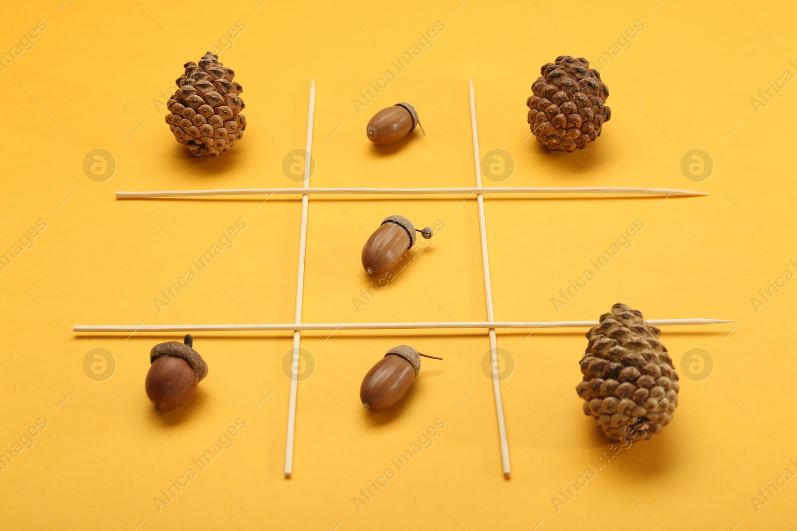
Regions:
M 183 64 L 186 73 L 175 83 L 179 87 L 167 103 L 166 123 L 177 141 L 196 157 L 217 157 L 241 138 L 246 118 L 241 115 L 243 87 L 233 81 L 235 72 L 206 53 L 199 61 Z

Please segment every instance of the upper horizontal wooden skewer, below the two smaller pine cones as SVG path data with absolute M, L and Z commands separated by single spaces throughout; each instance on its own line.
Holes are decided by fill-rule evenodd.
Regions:
M 464 186 L 459 188 L 226 188 L 208 190 L 155 190 L 151 192 L 116 192 L 116 197 L 201 197 L 224 195 L 299 195 L 304 193 L 367 195 L 456 195 L 471 193 L 614 193 L 633 195 L 701 196 L 707 192 L 670 188 L 634 188 L 622 186 Z

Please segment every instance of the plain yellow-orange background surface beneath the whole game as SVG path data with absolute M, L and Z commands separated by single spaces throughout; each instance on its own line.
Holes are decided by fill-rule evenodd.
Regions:
M 757 112 L 751 99 L 784 70 L 797 73 L 789 64 L 797 59 L 795 6 L 400 3 L 4 6 L 0 51 L 12 49 L 38 20 L 47 29 L 0 73 L 0 251 L 37 220 L 47 228 L 0 271 L 0 449 L 12 447 L 37 419 L 47 428 L 0 472 L 2 529 L 794 525 L 794 480 L 757 512 L 751 497 L 785 468 L 797 472 L 788 461 L 797 460 L 790 341 L 797 287 L 787 283 L 758 311 L 751 299 L 783 270 L 797 272 L 789 264 L 797 259 L 790 157 L 797 88 L 787 84 Z M 229 153 L 194 159 L 172 138 L 166 112 L 153 100 L 171 90 L 183 63 L 198 61 L 239 20 L 246 28 L 220 59 L 244 87 L 249 124 Z M 446 28 L 432 48 L 358 114 L 351 100 L 394 69 L 391 61 L 438 20 Z M 634 21 L 644 30 L 603 69 L 613 111 L 603 136 L 573 154 L 548 153 L 524 140 L 525 100 L 540 66 L 563 53 L 595 61 Z M 209 376 L 190 404 L 163 413 L 144 392 L 147 354 L 180 334 L 71 331 L 75 324 L 291 322 L 296 197 L 263 205 L 257 197 L 117 201 L 114 191 L 295 185 L 281 165 L 290 150 L 304 148 L 312 78 L 318 90 L 312 185 L 473 185 L 469 76 L 481 153 L 505 150 L 515 163 L 502 185 L 709 192 L 663 203 L 662 197 L 485 200 L 499 320 L 596 319 L 618 301 L 650 318 L 735 320 L 662 334 L 679 371 L 695 348 L 709 353 L 714 368 L 702 381 L 682 375 L 681 403 L 661 435 L 597 470 L 591 460 L 608 444 L 583 416 L 574 390 L 586 330 L 538 330 L 528 338 L 528 331 L 500 331 L 498 344 L 515 362 L 502 384 L 512 459 L 507 481 L 492 388 L 481 370 L 489 349 L 484 330 L 303 334 L 316 369 L 300 382 L 294 475 L 285 479 L 289 378 L 281 362 L 291 348 L 289 333 L 195 334 Z M 426 137 L 416 132 L 395 149 L 376 150 L 365 124 L 397 101 L 416 106 Z M 106 182 L 90 180 L 82 169 L 96 149 L 116 160 Z M 693 149 L 713 158 L 705 182 L 681 174 L 681 158 Z M 476 201 L 455 209 L 460 200 L 312 197 L 304 321 L 484 319 Z M 419 226 L 442 220 L 446 228 L 358 313 L 352 299 L 369 282 L 360 249 L 383 217 L 396 213 Z M 152 299 L 238 219 L 246 228 L 234 247 L 158 312 Z M 551 299 L 559 289 L 635 220 L 645 228 L 633 246 L 557 313 Z M 401 405 L 368 414 L 359 403 L 361 378 L 400 343 L 446 359 L 423 361 Z M 105 381 L 84 373 L 84 357 L 96 348 L 116 360 Z M 234 446 L 159 511 L 153 498 L 237 419 L 246 428 Z M 395 470 L 358 512 L 352 498 L 436 419 L 446 428 L 434 445 Z M 557 511 L 552 498 L 587 468 L 595 478 Z

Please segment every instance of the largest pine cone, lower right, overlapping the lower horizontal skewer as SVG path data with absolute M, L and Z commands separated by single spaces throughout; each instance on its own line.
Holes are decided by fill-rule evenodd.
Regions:
M 587 332 L 584 377 L 575 391 L 608 439 L 650 439 L 673 419 L 680 385 L 660 334 L 642 312 L 621 303 Z

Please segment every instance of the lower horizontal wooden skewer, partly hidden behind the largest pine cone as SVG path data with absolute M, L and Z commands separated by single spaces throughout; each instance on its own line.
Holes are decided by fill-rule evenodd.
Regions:
M 719 325 L 728 319 L 646 319 L 650 325 Z M 282 323 L 272 325 L 75 325 L 74 332 L 257 332 L 273 330 L 406 330 L 451 328 L 583 328 L 598 326 L 598 321 L 463 321 L 463 322 L 341 322 Z

